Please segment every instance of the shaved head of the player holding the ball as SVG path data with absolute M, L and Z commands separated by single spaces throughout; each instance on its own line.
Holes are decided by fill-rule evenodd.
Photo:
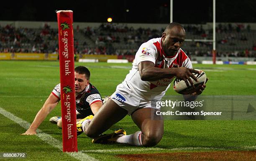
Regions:
M 174 56 L 185 40 L 185 31 L 179 26 L 162 34 L 162 47 L 167 56 Z

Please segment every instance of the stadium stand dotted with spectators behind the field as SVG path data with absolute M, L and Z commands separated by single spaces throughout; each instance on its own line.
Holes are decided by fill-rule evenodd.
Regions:
M 202 25 L 184 25 L 187 39 L 212 39 L 212 30 Z M 161 30 L 127 27 L 125 24 L 102 23 L 97 28 L 74 28 L 77 54 L 135 55 L 141 43 L 161 36 Z M 256 30 L 243 24 L 216 28 L 217 56 L 256 57 Z M 212 56 L 212 42 L 187 41 L 182 47 L 188 55 Z M 58 31 L 43 28 L 0 27 L 0 53 L 58 53 Z

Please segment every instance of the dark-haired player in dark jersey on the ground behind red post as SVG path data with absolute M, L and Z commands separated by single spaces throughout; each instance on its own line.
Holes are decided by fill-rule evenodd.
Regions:
M 95 115 L 102 106 L 102 99 L 99 91 L 90 84 L 90 71 L 84 66 L 77 66 L 74 69 L 75 75 L 75 93 L 76 93 L 76 109 L 77 119 L 82 119 L 88 115 Z M 44 121 L 51 110 L 56 107 L 60 101 L 60 84 L 57 84 L 51 92 L 41 110 L 36 114 L 33 123 L 28 130 L 22 135 L 36 134 L 36 129 Z M 53 117 L 50 119 L 52 123 L 57 123 L 61 127 L 61 118 Z

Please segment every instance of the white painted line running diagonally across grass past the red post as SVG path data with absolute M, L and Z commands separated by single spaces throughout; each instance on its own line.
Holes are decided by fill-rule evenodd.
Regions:
M 22 120 L 21 118 L 18 118 L 17 116 L 13 115 L 12 113 L 4 110 L 0 107 L 0 114 L 4 115 L 6 118 L 14 121 L 15 123 L 19 124 L 21 127 L 28 129 L 30 126 L 30 123 L 28 123 L 25 120 Z M 62 143 L 61 141 L 53 138 L 51 135 L 41 132 L 41 130 L 36 130 L 38 134 L 36 134 L 41 140 L 45 141 L 51 146 L 54 146 L 55 148 L 58 148 L 60 151 L 62 151 Z M 80 161 L 98 161 L 95 158 L 92 158 L 91 156 L 88 156 L 87 154 L 83 153 L 82 151 L 79 152 L 72 152 L 67 153 L 69 156 L 72 156 L 73 158 L 80 160 Z

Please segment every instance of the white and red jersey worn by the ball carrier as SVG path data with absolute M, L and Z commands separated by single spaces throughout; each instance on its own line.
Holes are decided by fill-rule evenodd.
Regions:
M 174 77 L 151 82 L 142 81 L 138 71 L 138 64 L 141 61 L 152 61 L 155 67 L 162 69 L 180 66 L 192 68 L 189 57 L 182 49 L 179 49 L 175 56 L 167 57 L 161 46 L 161 38 L 153 38 L 143 43 L 136 53 L 132 69 L 118 86 L 130 88 L 134 95 L 144 100 L 161 100 Z

